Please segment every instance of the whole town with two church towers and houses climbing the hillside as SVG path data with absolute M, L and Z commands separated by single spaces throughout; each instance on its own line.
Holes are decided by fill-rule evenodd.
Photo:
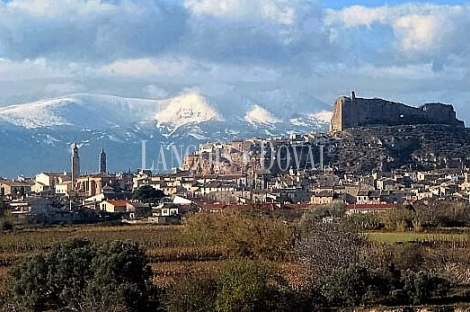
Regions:
M 470 171 L 465 168 L 351 174 L 318 167 L 309 153 L 311 146 L 321 147 L 315 140 L 321 141 L 322 135 L 203 144 L 185 157 L 180 169 L 164 174 L 148 170 L 109 174 L 103 150 L 99 173 L 80 174 L 78 147 L 74 145 L 71 173 L 0 178 L 0 214 L 7 211 L 33 223 L 174 223 L 190 211 L 215 212 L 253 205 L 304 211 L 339 202 L 345 205 L 346 213 L 352 214 L 387 211 L 428 198 L 470 200 Z M 292 160 L 288 155 L 298 152 L 304 156 Z M 277 166 L 263 165 L 272 164 L 273 159 L 279 160 Z M 297 169 L 293 169 L 289 167 L 292 161 L 310 165 L 303 168 L 297 163 Z M 142 187 L 158 190 L 165 197 L 150 203 L 133 200 L 133 193 Z

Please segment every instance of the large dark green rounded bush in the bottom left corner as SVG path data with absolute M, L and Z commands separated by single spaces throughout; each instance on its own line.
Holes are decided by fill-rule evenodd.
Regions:
M 146 311 L 154 298 L 148 258 L 131 242 L 72 239 L 21 260 L 7 282 L 22 310 Z

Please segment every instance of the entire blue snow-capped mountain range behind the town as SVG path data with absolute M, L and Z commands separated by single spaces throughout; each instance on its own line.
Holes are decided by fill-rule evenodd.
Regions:
M 164 100 L 73 94 L 0 107 L 4 146 L 0 153 L 0 176 L 68 170 L 72 142 L 80 144 L 82 167 L 88 172 L 96 170 L 102 147 L 108 151 L 110 169 L 135 170 L 142 167 L 143 141 L 147 154 L 157 158 L 159 148 L 168 149 L 171 145 L 327 128 L 324 119 L 328 114 L 322 111 L 289 115 L 285 110 L 270 111 L 267 103 L 258 100 L 229 102 L 197 92 Z

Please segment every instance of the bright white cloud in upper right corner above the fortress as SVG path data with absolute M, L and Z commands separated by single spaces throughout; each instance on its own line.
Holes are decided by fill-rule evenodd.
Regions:
M 462 24 L 468 26 L 469 15 L 469 5 L 352 6 L 339 11 L 327 10 L 325 27 L 331 32 L 332 40 L 337 40 L 339 34 L 347 29 L 385 25 L 393 31 L 399 52 L 435 54 L 436 51 L 445 53 L 449 47 L 444 45 L 450 43 L 447 39 L 456 36 Z

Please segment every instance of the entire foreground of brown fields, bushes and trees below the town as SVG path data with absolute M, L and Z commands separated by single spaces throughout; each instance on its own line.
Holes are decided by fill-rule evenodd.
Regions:
M 424 219 L 415 211 L 370 215 L 382 232 L 364 232 L 366 222 L 336 204 L 300 222 L 249 210 L 189 215 L 178 226 L 15 226 L 0 233 L 0 306 L 218 312 L 470 302 L 467 230 L 426 221 L 434 231 L 416 231 Z M 391 227 L 410 216 L 411 229 Z

